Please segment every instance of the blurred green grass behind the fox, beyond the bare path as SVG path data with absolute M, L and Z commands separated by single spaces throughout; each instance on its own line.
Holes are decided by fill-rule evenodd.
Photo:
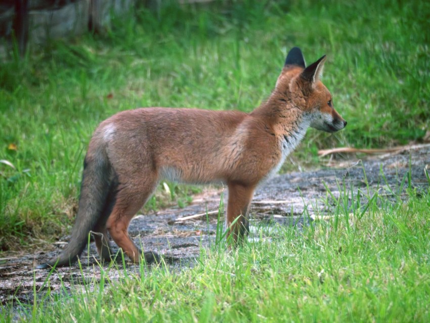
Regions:
M 249 112 L 270 94 L 294 46 L 308 64 L 327 54 L 323 82 L 348 127 L 310 130 L 284 171 L 318 166 L 320 148 L 425 140 L 429 2 L 157 4 L 112 15 L 102 32 L 29 44 L 23 55 L 16 42 L 4 51 L 0 250 L 44 246 L 68 232 L 83 156 L 103 119 L 145 106 Z M 175 186 L 173 197 L 187 201 L 193 190 Z M 162 204 L 156 196 L 149 208 Z

